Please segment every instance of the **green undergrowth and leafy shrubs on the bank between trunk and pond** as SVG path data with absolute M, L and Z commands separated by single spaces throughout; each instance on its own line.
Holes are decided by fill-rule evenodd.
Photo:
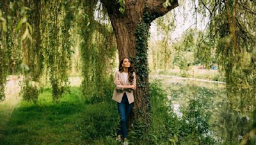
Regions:
M 134 144 L 212 144 L 209 134 L 211 114 L 204 111 L 204 97 L 189 100 L 184 107 L 182 118 L 173 112 L 172 102 L 168 100 L 159 81 L 150 83 L 151 122 L 132 125 L 130 133 Z M 202 91 L 202 90 L 198 90 Z

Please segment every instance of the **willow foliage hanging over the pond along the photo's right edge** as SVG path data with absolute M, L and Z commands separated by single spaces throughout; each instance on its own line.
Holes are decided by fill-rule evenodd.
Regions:
M 212 47 L 216 48 L 216 59 L 227 81 L 227 107 L 220 113 L 221 129 L 225 128 L 221 136 L 226 144 L 238 143 L 240 130 L 230 128 L 237 128 L 237 116 L 249 116 L 256 103 L 256 62 L 252 56 L 256 44 L 256 2 L 202 0 L 199 10 L 210 17 L 209 33 L 202 42 L 214 42 Z

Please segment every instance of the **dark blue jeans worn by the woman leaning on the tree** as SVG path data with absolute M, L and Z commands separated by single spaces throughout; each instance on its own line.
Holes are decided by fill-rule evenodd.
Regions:
M 133 107 L 133 102 L 129 104 L 127 95 L 124 93 L 122 101 L 119 103 L 117 102 L 118 114 L 120 116 L 120 127 L 118 130 L 118 135 L 123 135 L 124 138 L 127 137 L 127 120 L 128 116 L 131 113 Z

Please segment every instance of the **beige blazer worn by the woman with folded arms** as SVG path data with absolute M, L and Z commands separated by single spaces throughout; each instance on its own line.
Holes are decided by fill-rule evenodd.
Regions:
M 122 75 L 122 72 L 120 72 L 120 71 L 115 72 L 115 81 L 114 81 L 114 83 L 115 83 L 116 87 L 114 89 L 113 96 L 112 96 L 113 100 L 116 100 L 116 102 L 120 103 L 122 101 L 124 93 L 126 93 L 129 104 L 134 102 L 134 95 L 133 95 L 134 90 L 132 88 L 124 89 L 124 87 L 122 87 L 122 85 L 136 85 L 136 74 L 135 74 L 135 72 L 133 72 L 132 75 L 133 75 L 132 82 L 129 81 L 129 75 L 127 75 L 126 82 L 124 83 L 124 76 Z M 116 81 L 120 81 L 121 85 L 117 85 Z

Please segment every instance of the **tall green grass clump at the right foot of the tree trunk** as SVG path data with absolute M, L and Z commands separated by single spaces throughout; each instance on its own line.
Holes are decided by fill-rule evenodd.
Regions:
M 168 144 L 177 141 L 179 120 L 173 113 L 172 102 L 167 99 L 159 81 L 150 83 L 150 125 L 142 119 L 132 125 L 130 133 L 134 143 Z

